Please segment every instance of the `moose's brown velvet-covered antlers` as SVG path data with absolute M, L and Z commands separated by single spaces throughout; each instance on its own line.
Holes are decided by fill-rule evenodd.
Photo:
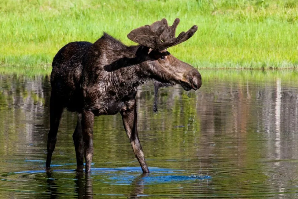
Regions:
M 194 25 L 187 32 L 181 32 L 178 37 L 175 37 L 176 28 L 179 24 L 179 19 L 176 18 L 172 26 L 168 26 L 167 20 L 162 19 L 153 24 L 145 25 L 132 30 L 128 35 L 128 39 L 147 46 L 156 51 L 167 49 L 189 39 L 197 31 L 198 27 Z

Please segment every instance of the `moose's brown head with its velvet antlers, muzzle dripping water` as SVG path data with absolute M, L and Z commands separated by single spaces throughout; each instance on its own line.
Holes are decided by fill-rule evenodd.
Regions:
M 180 84 L 187 91 L 197 90 L 202 84 L 201 74 L 193 66 L 180 61 L 167 51 L 167 48 L 189 39 L 198 29 L 194 25 L 187 32 L 181 32 L 175 37 L 179 21 L 176 18 L 173 25 L 168 26 L 167 20 L 162 19 L 132 30 L 127 37 L 147 47 L 149 58 L 146 66 L 155 80 L 172 85 Z

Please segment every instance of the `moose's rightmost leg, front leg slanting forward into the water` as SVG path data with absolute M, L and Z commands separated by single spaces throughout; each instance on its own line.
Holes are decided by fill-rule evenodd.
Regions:
M 123 126 L 131 142 L 134 155 L 138 159 L 142 167 L 143 173 L 149 173 L 149 169 L 144 158 L 143 149 L 138 137 L 137 109 L 135 99 L 130 100 L 126 103 L 126 105 L 123 107 L 123 110 L 121 111 L 121 115 L 123 120 Z

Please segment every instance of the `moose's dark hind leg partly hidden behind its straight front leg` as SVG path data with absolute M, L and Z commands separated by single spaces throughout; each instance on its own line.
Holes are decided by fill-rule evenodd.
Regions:
M 75 156 L 77 159 L 77 170 L 82 171 L 84 167 L 84 143 L 82 134 L 82 114 L 78 113 L 78 122 L 75 132 L 72 134 L 73 143 L 75 145 Z

